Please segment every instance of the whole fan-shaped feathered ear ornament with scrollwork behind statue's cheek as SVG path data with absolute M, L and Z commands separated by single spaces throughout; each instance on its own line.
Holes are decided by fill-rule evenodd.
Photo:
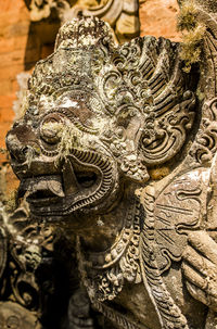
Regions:
M 133 103 L 140 112 L 137 151 L 146 166 L 163 164 L 175 156 L 193 124 L 195 97 L 188 88 L 179 50 L 177 43 L 164 38 L 132 40 L 120 48 L 120 55 L 114 61 L 116 72 L 110 74 L 117 94 L 111 102 L 117 103 L 122 94 L 124 102 L 127 96 L 126 107 Z

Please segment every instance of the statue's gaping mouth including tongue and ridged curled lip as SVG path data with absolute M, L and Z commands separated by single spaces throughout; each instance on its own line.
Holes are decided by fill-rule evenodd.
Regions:
M 97 159 L 97 157 L 95 157 Z M 98 204 L 112 188 L 112 165 L 99 161 L 98 166 L 66 160 L 59 175 L 24 179 L 20 195 L 26 193 L 33 215 L 64 216 Z

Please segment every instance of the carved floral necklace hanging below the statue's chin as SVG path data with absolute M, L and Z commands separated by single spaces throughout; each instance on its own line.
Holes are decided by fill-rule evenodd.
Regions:
M 131 202 L 118 240 L 108 251 L 90 253 L 87 261 L 78 241 L 80 271 L 91 300 L 112 301 L 122 291 L 125 280 L 141 282 L 139 239 L 143 213 L 140 207 L 138 201 Z

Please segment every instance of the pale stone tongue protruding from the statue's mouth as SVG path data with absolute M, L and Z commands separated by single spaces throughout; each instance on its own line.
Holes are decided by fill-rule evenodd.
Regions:
M 61 176 L 56 175 L 34 177 L 22 180 L 18 188 L 18 197 L 23 197 L 26 191 L 28 191 L 30 194 L 37 191 L 48 191 L 51 194 L 60 198 L 65 197 Z

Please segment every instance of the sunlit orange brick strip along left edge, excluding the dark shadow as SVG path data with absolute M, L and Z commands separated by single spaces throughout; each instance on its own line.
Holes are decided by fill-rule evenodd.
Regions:
M 11 127 L 16 99 L 16 75 L 25 69 L 29 29 L 28 11 L 23 0 L 0 0 L 0 148 Z M 7 199 L 17 186 L 5 154 L 0 154 L 0 199 Z

